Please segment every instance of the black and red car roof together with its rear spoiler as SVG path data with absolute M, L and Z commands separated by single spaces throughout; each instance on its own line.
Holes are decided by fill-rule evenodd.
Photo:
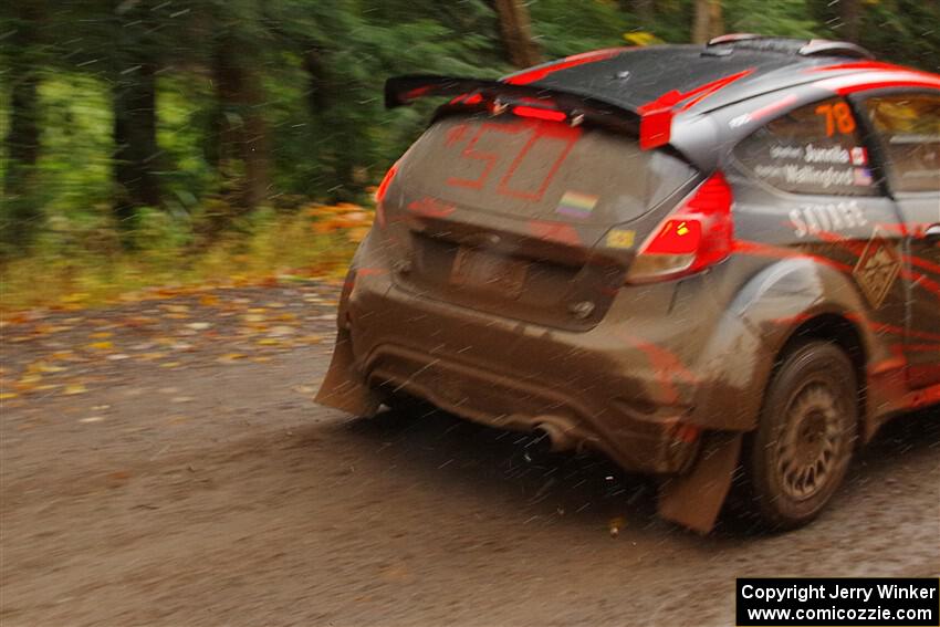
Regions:
M 438 109 L 447 114 L 470 105 L 495 106 L 501 97 L 549 102 L 576 124 L 589 116 L 592 123 L 638 129 L 643 149 L 669 146 L 711 171 L 767 116 L 886 87 L 940 90 L 940 75 L 875 61 L 852 43 L 732 34 L 704 46 L 596 50 L 499 81 L 396 76 L 386 81 L 385 103 L 394 108 L 425 96 L 456 96 Z M 491 104 L 482 105 L 487 98 Z M 504 108 L 503 103 L 498 113 Z

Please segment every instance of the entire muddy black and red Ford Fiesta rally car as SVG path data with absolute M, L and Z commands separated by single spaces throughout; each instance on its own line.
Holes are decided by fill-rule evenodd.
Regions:
M 729 35 L 386 84 L 432 96 L 321 403 L 593 448 L 708 531 L 739 468 L 767 525 L 808 522 L 859 443 L 940 401 L 940 76 Z

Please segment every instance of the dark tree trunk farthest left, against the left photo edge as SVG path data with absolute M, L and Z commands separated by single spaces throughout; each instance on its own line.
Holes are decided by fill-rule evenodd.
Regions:
M 10 248 L 25 251 L 42 220 L 35 191 L 39 160 L 39 67 L 33 58 L 38 44 L 39 3 L 20 6 L 18 24 L 10 46 L 10 117 L 7 136 L 7 171 L 3 177 L 3 240 Z

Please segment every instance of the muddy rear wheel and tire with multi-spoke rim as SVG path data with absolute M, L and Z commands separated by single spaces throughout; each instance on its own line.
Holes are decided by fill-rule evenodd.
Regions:
M 802 526 L 826 506 L 852 460 L 858 384 L 834 344 L 790 351 L 767 386 L 745 471 L 754 509 L 771 529 Z

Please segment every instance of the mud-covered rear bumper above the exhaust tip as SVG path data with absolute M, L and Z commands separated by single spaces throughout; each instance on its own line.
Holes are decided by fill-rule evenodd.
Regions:
M 385 272 L 361 275 L 341 311 L 351 372 L 370 389 L 500 428 L 551 429 L 630 471 L 681 472 L 694 460 L 700 384 L 668 348 L 681 343 L 675 333 L 643 339 L 626 327 L 656 328 L 629 321 L 550 330 L 411 294 Z

